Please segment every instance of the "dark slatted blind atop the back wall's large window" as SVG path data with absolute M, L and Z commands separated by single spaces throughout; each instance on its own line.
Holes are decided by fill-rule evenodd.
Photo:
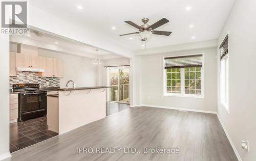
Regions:
M 164 58 L 164 68 L 202 67 L 203 55 Z

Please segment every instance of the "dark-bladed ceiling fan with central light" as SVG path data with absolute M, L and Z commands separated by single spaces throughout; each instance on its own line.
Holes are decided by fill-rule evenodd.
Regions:
M 154 23 L 152 25 L 147 24 L 147 22 L 149 20 L 150 19 L 148 19 L 148 18 L 143 18 L 141 21 L 144 24 L 142 24 L 141 26 L 137 25 L 136 23 L 134 23 L 132 21 L 124 21 L 125 23 L 128 23 L 128 24 L 134 26 L 134 28 L 139 29 L 139 32 L 123 34 L 123 35 L 120 35 L 120 36 L 139 34 L 139 36 L 141 37 L 141 41 L 146 41 L 148 38 L 150 38 L 152 36 L 152 34 L 154 34 L 154 35 L 163 35 L 163 36 L 169 36 L 170 34 L 172 34 L 172 32 L 168 32 L 168 31 L 157 31 L 157 30 L 155 30 L 159 26 L 169 22 L 169 20 L 167 20 L 166 18 L 162 18 L 162 19 L 160 19 L 159 21 L 157 21 L 156 23 Z

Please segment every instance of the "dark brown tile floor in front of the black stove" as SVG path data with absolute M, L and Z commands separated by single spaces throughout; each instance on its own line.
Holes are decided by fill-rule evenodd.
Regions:
M 10 152 L 47 140 L 58 133 L 48 130 L 47 117 L 10 124 Z

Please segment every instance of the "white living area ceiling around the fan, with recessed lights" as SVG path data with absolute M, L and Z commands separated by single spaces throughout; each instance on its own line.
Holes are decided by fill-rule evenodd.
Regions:
M 142 18 L 149 18 L 148 24 L 165 17 L 170 22 L 157 28 L 172 31 L 169 36 L 153 35 L 146 43 L 147 48 L 217 39 L 235 0 L 33 0 L 30 3 L 46 12 L 55 14 L 77 25 L 87 26 L 102 36 L 112 38 L 122 46 L 139 50 L 143 47 L 138 35 L 120 37 L 120 34 L 137 32 L 126 24 L 131 20 L 141 25 Z M 81 10 L 77 9 L 81 5 Z M 190 6 L 189 11 L 185 10 Z M 190 29 L 189 25 L 194 28 Z M 63 24 L 65 25 L 65 24 Z M 112 26 L 116 30 L 112 30 Z M 129 38 L 133 37 L 132 40 Z M 196 37 L 191 39 L 191 37 Z

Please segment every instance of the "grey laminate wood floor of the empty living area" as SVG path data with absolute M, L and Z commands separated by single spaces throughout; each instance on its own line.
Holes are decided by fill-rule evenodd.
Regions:
M 93 153 L 77 153 L 93 147 Z M 141 153 L 96 153 L 97 147 L 134 147 Z M 143 153 L 144 147 L 179 154 Z M 127 151 L 126 151 L 127 152 Z M 237 160 L 215 114 L 137 107 L 123 110 L 12 153 L 6 160 Z

